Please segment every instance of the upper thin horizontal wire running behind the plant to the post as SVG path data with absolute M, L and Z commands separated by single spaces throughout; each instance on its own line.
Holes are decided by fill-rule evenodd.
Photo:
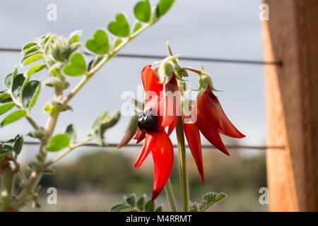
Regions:
M 0 48 L 0 52 L 21 52 L 18 48 Z M 89 56 L 94 56 L 89 52 L 84 52 Z M 114 57 L 129 57 L 129 58 L 146 58 L 146 59 L 164 59 L 164 55 L 148 55 L 148 54 L 116 54 Z M 206 61 L 218 63 L 232 63 L 232 64 L 261 64 L 261 65 L 276 65 L 283 66 L 282 61 L 255 61 L 245 59 L 220 59 L 220 58 L 204 58 L 204 57 L 179 57 L 185 61 Z

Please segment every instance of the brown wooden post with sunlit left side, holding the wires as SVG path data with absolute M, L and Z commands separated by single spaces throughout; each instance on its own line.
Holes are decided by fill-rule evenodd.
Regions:
M 269 210 L 318 211 L 318 1 L 264 3 Z

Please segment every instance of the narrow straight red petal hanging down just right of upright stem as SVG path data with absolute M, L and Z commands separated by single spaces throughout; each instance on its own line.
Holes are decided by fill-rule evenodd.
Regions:
M 202 147 L 199 129 L 196 124 L 184 124 L 184 133 L 187 138 L 192 156 L 194 157 L 194 160 L 196 162 L 196 167 L 199 170 L 201 182 L 202 184 L 204 184 L 204 168 L 202 161 Z

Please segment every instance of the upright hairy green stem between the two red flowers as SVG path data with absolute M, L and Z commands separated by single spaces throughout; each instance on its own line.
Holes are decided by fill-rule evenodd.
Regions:
M 179 116 L 177 126 L 177 143 L 179 150 L 179 169 L 181 177 L 182 212 L 189 211 L 189 182 L 187 174 L 187 156 L 184 144 L 182 117 Z

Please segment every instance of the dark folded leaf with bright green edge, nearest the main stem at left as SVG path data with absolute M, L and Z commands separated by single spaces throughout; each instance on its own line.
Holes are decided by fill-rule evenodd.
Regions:
M 37 101 L 37 96 L 40 93 L 41 84 L 40 81 L 30 81 L 28 82 L 22 91 L 22 105 L 25 109 L 28 109 L 30 111 L 31 107 L 35 105 L 35 102 Z

